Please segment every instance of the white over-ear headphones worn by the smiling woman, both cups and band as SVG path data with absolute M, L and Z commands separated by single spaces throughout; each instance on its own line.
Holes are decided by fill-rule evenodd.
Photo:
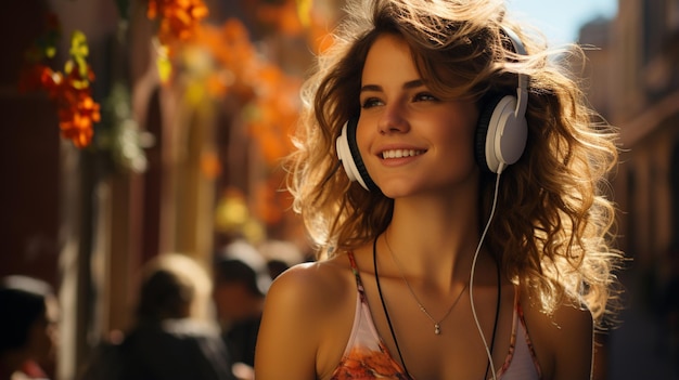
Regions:
M 508 28 L 501 30 L 512 42 L 514 51 L 526 55 L 526 49 L 516 34 Z M 483 170 L 500 173 L 521 158 L 528 136 L 527 104 L 528 78 L 523 74 L 518 74 L 516 95 L 496 95 L 483 102 L 474 146 L 476 161 Z M 357 125 L 358 117 L 351 117 L 342 127 L 335 142 L 337 158 L 350 181 L 358 181 L 368 191 L 379 191 L 368 174 L 356 143 Z

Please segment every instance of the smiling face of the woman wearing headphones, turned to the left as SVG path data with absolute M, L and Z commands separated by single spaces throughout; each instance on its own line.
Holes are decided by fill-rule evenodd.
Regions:
M 387 197 L 450 196 L 474 180 L 476 105 L 444 101 L 430 91 L 401 38 L 382 35 L 370 49 L 360 104 L 358 146 Z

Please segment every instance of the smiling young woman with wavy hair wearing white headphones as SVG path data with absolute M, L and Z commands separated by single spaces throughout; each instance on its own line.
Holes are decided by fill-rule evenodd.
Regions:
M 590 379 L 615 131 L 501 1 L 347 15 L 290 160 L 319 260 L 269 290 L 256 378 Z

